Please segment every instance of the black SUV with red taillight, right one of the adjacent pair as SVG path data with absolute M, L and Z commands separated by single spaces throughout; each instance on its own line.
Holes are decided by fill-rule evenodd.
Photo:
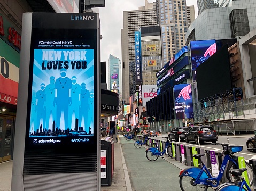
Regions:
M 211 126 L 194 126 L 189 129 L 188 132 L 185 133 L 185 141 L 189 143 L 190 141 L 195 141 L 198 144 L 198 136 L 199 142 L 212 142 L 216 143 L 218 140 L 218 136 L 216 131 Z

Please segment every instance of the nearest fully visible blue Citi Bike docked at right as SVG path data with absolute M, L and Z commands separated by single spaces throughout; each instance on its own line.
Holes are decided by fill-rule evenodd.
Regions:
M 198 159 L 201 162 L 202 167 L 201 168 L 189 167 L 180 172 L 180 175 L 179 175 L 180 187 L 182 191 L 193 190 L 193 188 L 195 188 L 196 190 L 206 191 L 208 187 L 219 186 L 220 180 L 226 168 L 227 168 L 226 177 L 228 181 L 234 182 L 234 177 L 229 173 L 229 171 L 232 169 L 238 169 L 239 167 L 238 167 L 238 162 L 235 160 L 235 156 L 233 156 L 233 154 L 242 151 L 243 146 L 229 146 L 228 144 L 222 144 L 222 143 L 214 143 L 213 145 L 222 145 L 223 154 L 225 155 L 224 160 L 221 164 L 218 176 L 212 177 L 211 173 L 206 168 L 203 161 L 201 161 L 201 156 L 204 156 L 205 154 L 195 154 L 193 155 L 193 157 L 195 157 L 195 159 Z M 253 184 L 252 167 L 248 162 L 245 162 L 245 165 L 247 168 L 250 185 L 252 185 Z

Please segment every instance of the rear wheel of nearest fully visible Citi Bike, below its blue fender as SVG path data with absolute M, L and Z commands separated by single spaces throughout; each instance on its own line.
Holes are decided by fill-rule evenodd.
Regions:
M 208 186 L 206 185 L 193 185 L 193 181 L 195 179 L 189 176 L 182 176 L 180 177 L 180 187 L 182 191 L 191 191 L 191 190 L 198 190 L 198 191 L 206 191 Z

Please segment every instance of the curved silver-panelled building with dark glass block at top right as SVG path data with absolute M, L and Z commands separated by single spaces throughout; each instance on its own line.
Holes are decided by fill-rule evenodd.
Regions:
M 209 1 L 198 1 L 198 5 L 201 5 L 201 2 Z M 187 31 L 187 45 L 189 41 L 195 40 L 239 39 L 256 28 L 255 1 L 222 2 L 225 2 L 223 5 L 221 4 L 222 6 L 212 8 L 213 5 L 207 5 L 199 11 L 198 17 Z

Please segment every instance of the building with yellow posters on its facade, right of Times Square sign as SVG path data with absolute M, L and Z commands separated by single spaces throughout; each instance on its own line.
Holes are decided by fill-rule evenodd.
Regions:
M 141 27 L 142 85 L 156 85 L 162 68 L 160 26 Z

